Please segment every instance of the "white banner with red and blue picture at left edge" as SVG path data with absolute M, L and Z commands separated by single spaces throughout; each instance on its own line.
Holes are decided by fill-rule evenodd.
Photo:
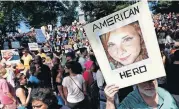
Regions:
M 6 63 L 7 65 L 20 63 L 19 53 L 15 49 L 1 50 L 1 56 L 1 63 Z

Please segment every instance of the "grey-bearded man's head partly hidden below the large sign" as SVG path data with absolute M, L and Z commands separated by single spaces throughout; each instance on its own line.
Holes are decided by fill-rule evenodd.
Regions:
M 150 80 L 147 82 L 139 83 L 138 90 L 141 95 L 153 97 L 156 94 L 156 88 L 158 87 L 157 80 Z

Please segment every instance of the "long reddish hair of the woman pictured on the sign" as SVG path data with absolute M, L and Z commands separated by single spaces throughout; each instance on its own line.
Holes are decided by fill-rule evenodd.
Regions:
M 135 62 L 137 61 L 141 61 L 143 59 L 147 59 L 148 58 L 148 54 L 147 54 L 147 50 L 146 50 L 146 46 L 145 46 L 145 42 L 144 42 L 144 39 L 142 37 L 142 32 L 141 32 L 141 29 L 140 29 L 140 26 L 139 26 L 139 23 L 138 21 L 136 22 L 133 22 L 131 24 L 129 24 L 130 26 L 134 27 L 134 29 L 136 30 L 137 34 L 139 35 L 140 37 L 140 47 L 141 47 L 141 51 L 139 53 L 139 56 L 137 57 L 137 59 L 135 60 Z M 128 25 L 126 25 L 128 26 Z M 103 47 L 105 49 L 105 53 L 107 54 L 107 57 L 108 57 L 108 60 L 109 62 L 111 62 L 112 64 L 114 64 L 115 68 L 120 68 L 124 65 L 122 65 L 120 62 L 114 60 L 108 53 L 108 46 L 107 46 L 107 43 L 108 43 L 108 40 L 109 40 L 109 37 L 110 37 L 110 33 L 111 32 L 108 32 L 106 34 L 103 34 L 101 36 L 101 41 L 102 41 L 102 44 L 103 44 Z

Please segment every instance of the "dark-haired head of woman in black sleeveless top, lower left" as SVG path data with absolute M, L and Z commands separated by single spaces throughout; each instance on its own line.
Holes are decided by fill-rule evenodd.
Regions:
M 23 73 L 17 74 L 15 78 L 16 86 L 17 85 L 26 85 L 27 84 L 27 78 Z

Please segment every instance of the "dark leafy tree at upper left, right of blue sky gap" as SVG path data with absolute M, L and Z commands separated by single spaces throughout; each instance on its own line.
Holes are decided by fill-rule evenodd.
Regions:
M 65 7 L 59 1 L 27 1 L 21 8 L 27 24 L 35 28 L 48 24 L 55 26 L 58 16 L 65 11 Z

